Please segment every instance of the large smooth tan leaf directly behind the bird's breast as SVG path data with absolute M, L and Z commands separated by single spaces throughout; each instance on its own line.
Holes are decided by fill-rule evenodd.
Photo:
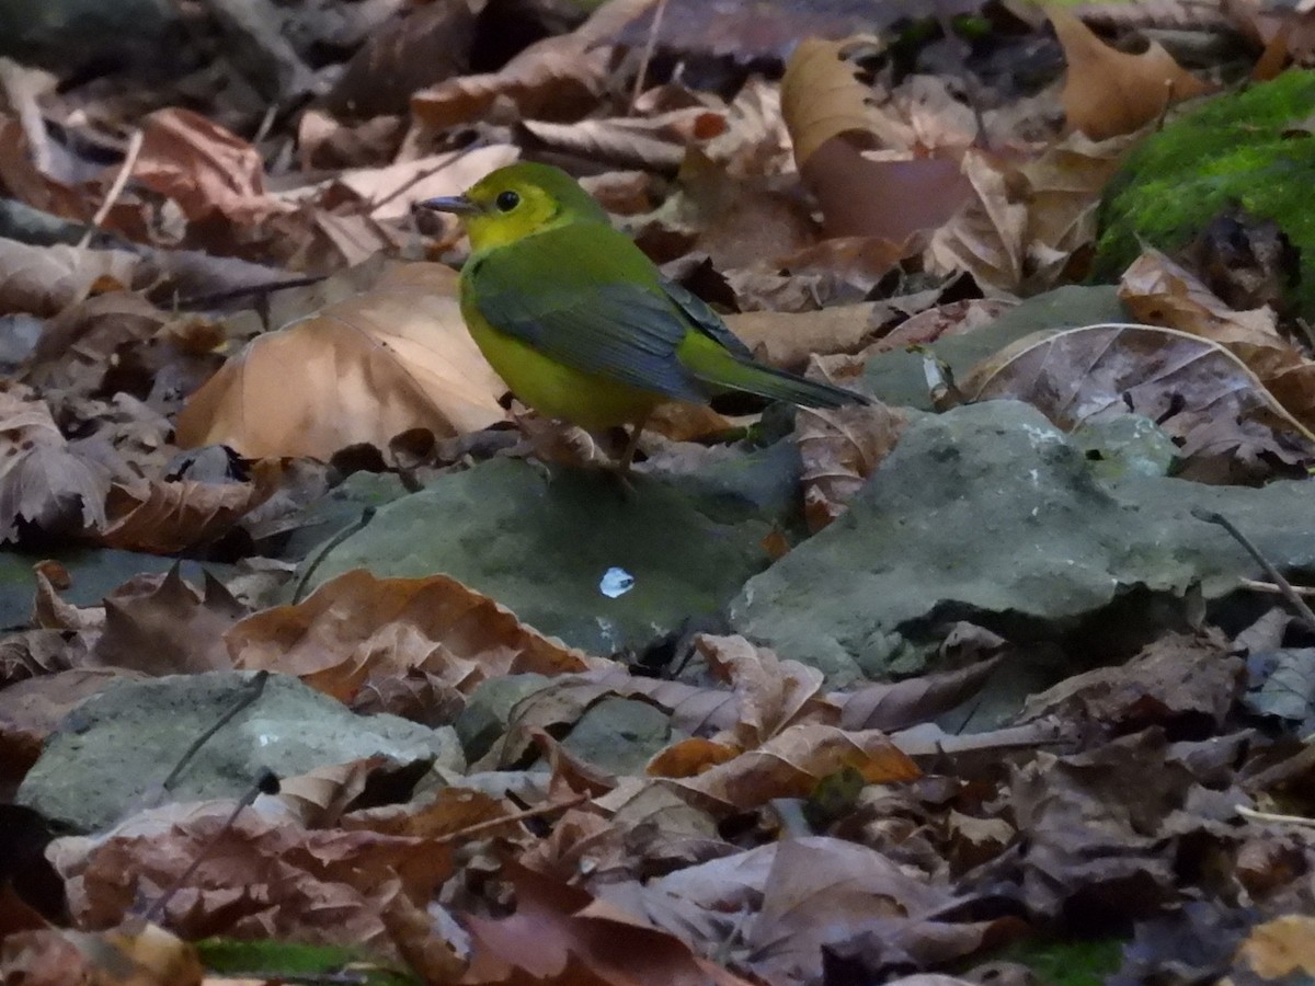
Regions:
M 466 331 L 455 292 L 450 268 L 408 264 L 255 339 L 192 394 L 179 444 L 327 459 L 358 442 L 384 448 L 413 427 L 448 436 L 501 421 L 506 385 Z

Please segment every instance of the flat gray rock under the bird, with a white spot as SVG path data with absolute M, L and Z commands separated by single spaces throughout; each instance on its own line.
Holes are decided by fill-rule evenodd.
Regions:
M 492 459 L 383 506 L 316 569 L 443 573 L 592 653 L 643 647 L 717 613 L 767 568 L 763 539 L 797 511 L 789 443 L 697 473 L 639 475 Z

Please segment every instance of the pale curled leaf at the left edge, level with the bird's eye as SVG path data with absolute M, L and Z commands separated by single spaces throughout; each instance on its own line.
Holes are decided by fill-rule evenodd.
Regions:
M 30 246 L 0 238 L 0 314 L 54 316 L 93 292 L 124 291 L 139 263 L 126 250 Z

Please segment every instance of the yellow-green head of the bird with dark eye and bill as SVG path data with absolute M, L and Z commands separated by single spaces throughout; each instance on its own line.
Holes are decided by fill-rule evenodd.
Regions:
M 456 213 L 475 252 L 571 222 L 608 222 L 604 208 L 567 172 L 531 162 L 489 172 L 466 195 L 430 199 L 419 205 Z

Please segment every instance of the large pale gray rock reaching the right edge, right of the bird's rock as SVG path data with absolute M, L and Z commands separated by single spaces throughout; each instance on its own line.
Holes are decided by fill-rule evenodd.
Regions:
M 1310 482 L 1101 481 L 1090 465 L 1024 404 L 915 417 L 840 519 L 744 585 L 731 626 L 844 684 L 918 670 L 955 619 L 1055 639 L 1134 593 L 1180 601 L 1199 584 L 1219 599 L 1258 567 L 1193 507 L 1279 568 L 1315 567 Z

